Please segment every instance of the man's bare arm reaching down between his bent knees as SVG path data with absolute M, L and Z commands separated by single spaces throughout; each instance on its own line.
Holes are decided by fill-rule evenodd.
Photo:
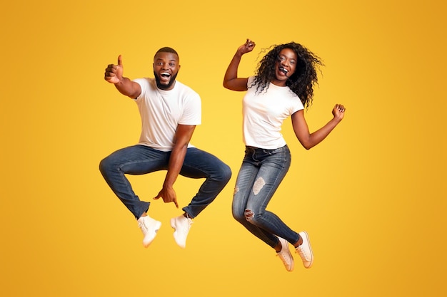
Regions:
M 186 150 L 188 149 L 188 143 L 191 140 L 194 129 L 194 125 L 178 125 L 176 131 L 176 143 L 171 152 L 169 158 L 169 167 L 166 177 L 164 179 L 163 188 L 154 199 L 163 198 L 165 203 L 174 202 L 176 207 L 179 208 L 177 203 L 177 196 L 174 190 L 174 182 L 179 177 L 181 167 L 185 160 Z

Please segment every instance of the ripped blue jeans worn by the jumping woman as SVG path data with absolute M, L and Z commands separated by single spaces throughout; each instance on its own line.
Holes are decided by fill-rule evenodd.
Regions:
M 246 147 L 233 195 L 233 217 L 248 231 L 271 247 L 278 237 L 295 244 L 298 233 L 290 229 L 276 214 L 266 210 L 279 184 L 291 165 L 288 146 L 276 150 Z

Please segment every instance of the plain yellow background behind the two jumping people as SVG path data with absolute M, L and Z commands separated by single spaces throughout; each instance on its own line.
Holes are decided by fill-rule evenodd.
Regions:
M 1 9 L 1 296 L 446 296 L 446 4 L 442 1 L 8 1 Z M 291 170 L 270 209 L 311 237 L 315 263 L 292 273 L 231 217 L 243 157 L 241 98 L 221 81 L 262 48 L 296 41 L 323 58 L 304 150 L 290 120 Z M 152 75 L 162 46 L 203 100 L 194 145 L 231 166 L 228 186 L 176 246 L 169 218 L 149 249 L 98 170 L 139 137 L 136 105 L 104 81 L 123 55 Z M 130 177 L 151 200 L 164 173 Z M 186 205 L 201 181 L 179 178 Z

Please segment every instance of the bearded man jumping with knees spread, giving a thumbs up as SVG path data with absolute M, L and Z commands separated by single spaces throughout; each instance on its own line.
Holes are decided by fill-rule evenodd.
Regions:
M 173 48 L 161 48 L 154 56 L 154 78 L 130 80 L 123 76 L 123 61 L 106 68 L 104 79 L 117 90 L 135 100 L 141 116 L 139 143 L 118 150 L 101 161 L 99 170 L 121 202 L 138 221 L 144 234 L 143 245 L 149 246 L 161 222 L 148 215 L 150 202 L 134 193 L 125 174 L 146 174 L 166 170 L 164 184 L 154 199 L 173 202 L 177 208 L 174 182 L 179 174 L 205 178 L 199 192 L 182 210 L 184 214 L 171 219 L 174 239 L 186 247 L 186 236 L 194 219 L 228 183 L 231 170 L 214 155 L 199 150 L 189 142 L 196 125 L 201 124 L 201 99 L 191 88 L 176 80 L 179 55 Z

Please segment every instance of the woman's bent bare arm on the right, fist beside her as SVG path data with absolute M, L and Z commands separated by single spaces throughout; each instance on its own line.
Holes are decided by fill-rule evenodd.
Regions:
M 326 125 L 313 133 L 309 132 L 303 110 L 298 110 L 296 113 L 293 113 L 291 117 L 293 131 L 295 132 L 295 135 L 301 145 L 303 145 L 306 150 L 310 150 L 312 147 L 322 142 L 329 135 L 329 133 L 332 132 L 333 128 L 335 128 L 336 125 L 343 120 L 345 110 L 346 109 L 343 105 L 335 105 L 332 110 L 333 118 Z

